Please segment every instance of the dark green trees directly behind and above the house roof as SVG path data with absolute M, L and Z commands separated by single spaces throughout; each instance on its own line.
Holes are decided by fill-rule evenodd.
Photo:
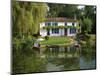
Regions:
M 66 5 L 66 4 L 52 4 L 48 3 L 50 10 L 48 12 L 48 17 L 68 17 L 73 18 L 76 12 L 76 5 Z

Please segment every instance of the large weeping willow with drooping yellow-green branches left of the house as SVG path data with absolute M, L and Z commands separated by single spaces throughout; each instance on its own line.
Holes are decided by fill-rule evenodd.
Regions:
M 13 36 L 30 35 L 39 32 L 39 25 L 45 20 L 47 5 L 12 1 Z

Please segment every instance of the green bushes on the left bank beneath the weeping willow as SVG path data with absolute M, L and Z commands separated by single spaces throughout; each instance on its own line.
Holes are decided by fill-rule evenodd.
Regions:
M 13 50 L 14 52 L 27 52 L 27 50 L 32 50 L 32 47 L 34 45 L 35 38 L 28 36 L 24 39 L 19 38 L 13 38 L 12 44 L 13 44 Z

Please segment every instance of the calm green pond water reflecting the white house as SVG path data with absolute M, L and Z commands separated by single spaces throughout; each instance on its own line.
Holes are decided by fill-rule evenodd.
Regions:
M 96 68 L 96 49 L 91 46 L 48 47 L 23 50 L 13 55 L 13 73 L 86 70 Z

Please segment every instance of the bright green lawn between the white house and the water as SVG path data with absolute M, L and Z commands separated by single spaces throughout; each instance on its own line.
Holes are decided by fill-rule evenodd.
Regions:
M 44 40 L 40 42 L 40 45 L 69 45 L 73 43 L 74 40 L 71 37 L 65 36 L 57 36 L 57 37 L 49 37 L 48 40 Z

